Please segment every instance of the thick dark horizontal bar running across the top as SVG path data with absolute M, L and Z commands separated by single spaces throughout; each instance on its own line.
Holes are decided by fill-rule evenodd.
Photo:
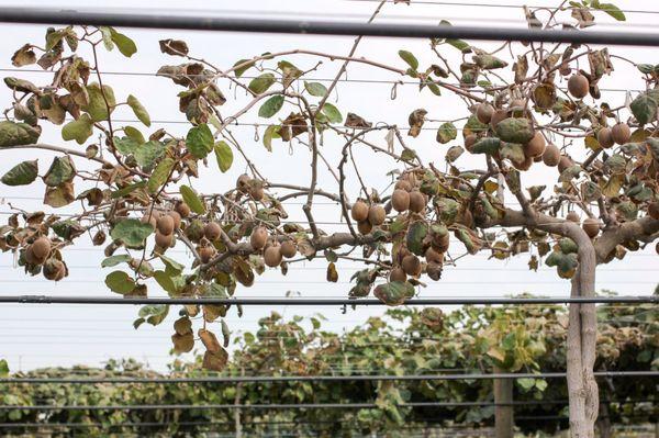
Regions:
M 271 20 L 157 13 L 72 11 L 47 8 L 0 8 L 0 22 L 32 24 L 112 25 L 188 31 L 265 32 L 283 34 L 364 35 L 414 38 L 472 38 L 537 43 L 659 46 L 659 33 L 555 31 L 525 27 L 368 24 L 339 21 Z

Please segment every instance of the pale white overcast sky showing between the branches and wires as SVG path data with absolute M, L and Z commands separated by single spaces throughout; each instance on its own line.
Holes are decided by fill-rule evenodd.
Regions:
M 102 7 L 104 2 L 96 2 L 94 7 Z M 498 4 L 489 1 L 488 3 Z M 536 3 L 556 4 L 556 1 L 539 0 Z M 0 5 L 15 5 L 13 1 L 0 1 Z M 66 1 L 58 2 L 63 9 L 87 8 L 89 2 Z M 112 1 L 112 9 L 125 10 L 133 8 L 135 1 Z M 148 8 L 148 2 L 138 2 L 141 7 Z M 180 10 L 180 1 L 159 1 L 158 11 Z M 521 1 L 509 0 L 506 4 L 523 4 Z M 621 8 L 632 2 L 616 2 Z M 51 7 L 49 1 L 23 2 L 21 5 L 41 5 Z M 266 1 L 242 1 L 217 3 L 214 13 L 225 15 L 227 10 L 238 11 L 235 13 L 244 14 L 245 11 L 254 13 L 278 13 L 286 15 L 287 12 L 304 13 L 319 19 L 359 19 L 370 14 L 376 3 L 371 2 L 349 2 L 349 1 L 287 1 L 287 2 L 266 2 Z M 634 1 L 635 10 L 655 10 L 659 11 L 654 1 Z M 206 12 L 209 3 L 204 1 L 188 1 L 186 9 L 190 12 Z M 211 12 L 209 12 L 211 13 Z M 656 12 L 659 13 L 659 12 Z M 349 16 L 348 16 L 349 15 Z M 260 15 L 258 15 L 260 16 Z M 278 15 L 279 16 L 279 15 Z M 297 15 L 288 15 L 294 18 Z M 406 18 L 407 19 L 406 19 Z M 628 13 L 628 22 L 636 24 L 634 30 L 643 31 L 649 25 L 656 15 L 645 13 Z M 383 8 L 381 18 L 377 20 L 388 20 L 393 22 L 406 22 L 411 25 L 423 20 L 425 23 L 434 23 L 442 19 L 451 20 L 454 23 L 462 24 L 483 24 L 484 25 L 524 25 L 520 20 L 523 19 L 521 9 L 505 8 L 473 8 L 473 7 L 448 7 L 439 4 L 404 4 L 388 3 Z M 614 23 L 608 16 L 600 13 L 597 20 L 607 23 L 606 29 L 628 29 L 628 25 Z M 3 37 L 0 40 L 0 68 L 13 68 L 10 57 L 13 52 L 26 42 L 41 44 L 44 38 L 46 26 L 37 25 L 0 25 Z M 170 57 L 160 53 L 158 40 L 171 37 L 187 41 L 190 53 L 194 56 L 203 57 L 221 68 L 232 66 L 241 58 L 249 58 L 264 52 L 277 52 L 291 48 L 306 48 L 325 53 L 345 55 L 350 48 L 353 37 L 327 37 L 327 36 L 299 36 L 299 35 L 265 35 L 265 34 L 238 34 L 238 33 L 205 33 L 205 32 L 170 32 L 170 31 L 141 31 L 131 29 L 121 29 L 131 36 L 137 44 L 138 52 L 131 59 L 124 58 L 118 50 L 112 53 L 103 52 L 100 65 L 104 71 L 133 71 L 133 72 L 155 72 L 161 65 L 176 65 L 182 63 L 181 58 Z M 478 44 L 482 48 L 491 48 L 498 44 Z M 398 57 L 398 50 L 404 48 L 413 52 L 421 61 L 422 66 L 435 63 L 434 55 L 428 49 L 425 40 L 393 40 L 393 38 L 366 38 L 359 50 L 359 56 L 377 59 L 381 63 L 403 67 L 403 61 Z M 659 63 L 659 52 L 656 48 L 630 48 L 612 47 L 611 52 L 621 54 L 628 58 L 643 63 Z M 455 56 L 455 49 L 443 48 L 443 53 Z M 287 58 L 293 61 L 302 69 L 311 68 L 315 65 L 315 59 L 305 56 L 291 56 Z M 510 60 L 510 59 L 506 59 Z M 310 76 L 314 78 L 330 78 L 335 75 L 338 63 L 324 60 L 317 71 Z M 34 66 L 27 67 L 27 69 Z M 628 88 L 640 89 L 644 87 L 640 77 L 635 74 L 634 68 L 616 63 L 616 75 L 612 78 L 605 78 L 601 82 L 603 88 Z M 378 71 L 372 68 L 351 65 L 349 67 L 348 78 L 350 79 L 400 79 L 392 74 Z M 509 70 L 506 70 L 507 75 Z M 33 80 L 35 83 L 46 83 L 51 75 L 11 72 L 2 71 L 2 76 L 19 76 Z M 409 79 L 409 78 L 407 78 Z M 174 86 L 170 80 L 165 78 L 145 77 L 145 76 L 107 76 L 107 83 L 114 88 L 118 101 L 123 100 L 129 93 L 134 93 L 145 104 L 154 121 L 185 121 L 185 115 L 178 112 L 178 100 L 176 93 L 182 88 Z M 224 114 L 230 114 L 232 109 L 239 108 L 233 102 L 234 90 L 230 90 L 226 82 L 220 83 L 222 90 L 228 98 L 228 102 L 223 106 Z M 456 119 L 465 115 L 465 110 L 460 105 L 461 101 L 445 92 L 442 98 L 437 98 L 424 90 L 421 94 L 414 85 L 406 85 L 398 88 L 398 98 L 390 100 L 391 85 L 388 83 L 360 83 L 343 82 L 338 88 L 338 97 L 331 98 L 343 112 L 353 111 L 362 115 L 371 122 L 384 121 L 395 122 L 401 126 L 407 125 L 407 114 L 417 109 L 428 110 L 428 117 L 434 120 Z M 606 99 L 613 106 L 625 102 L 624 92 L 606 92 Z M 238 103 L 245 102 L 245 96 L 237 93 Z M 0 89 L 0 101 L 2 108 L 10 103 L 10 93 L 8 89 Z M 460 105 L 460 106 L 458 106 Z M 457 110 L 457 111 L 456 111 Z M 284 117 L 288 111 L 282 110 L 279 114 Z M 118 110 L 115 117 L 134 119 L 130 112 Z M 242 122 L 259 122 L 256 111 L 247 114 Z M 132 123 L 138 126 L 138 123 Z M 426 126 L 438 126 L 437 122 L 426 122 Z M 59 137 L 59 131 L 56 127 L 42 123 L 45 127 L 42 141 L 52 144 L 64 144 Z M 460 124 L 458 124 L 460 126 Z M 166 127 L 168 132 L 185 135 L 189 125 L 183 124 L 160 124 L 154 123 L 149 133 L 158 127 Z M 275 142 L 272 154 L 268 154 L 260 142 L 254 141 L 254 127 L 236 126 L 233 128 L 234 135 L 243 142 L 246 153 L 254 159 L 271 181 L 292 182 L 306 184 L 309 182 L 309 153 L 301 146 L 294 146 L 295 154 L 289 155 L 289 147 L 279 141 Z M 143 130 L 143 132 L 146 132 Z M 259 128 L 263 135 L 264 128 Z M 383 133 L 373 134 L 370 139 L 383 145 Z M 435 139 L 435 131 L 424 131 L 423 134 L 413 139 L 406 138 L 407 144 L 413 147 L 424 161 L 435 161 L 439 167 L 444 166 L 444 154 L 449 145 L 438 145 Z M 460 138 L 460 137 L 458 137 Z M 456 144 L 455 142 L 451 144 Z M 582 142 L 578 141 L 576 149 L 580 149 Z M 69 142 L 67 147 L 79 148 L 75 142 Z M 331 135 L 325 136 L 323 153 L 333 161 L 337 162 L 339 154 L 339 143 Z M 356 160 L 360 164 L 362 177 L 368 187 L 383 189 L 388 184 L 388 178 L 384 173 L 393 168 L 395 164 L 381 157 L 372 157 L 366 150 L 356 153 Z M 244 161 L 237 159 L 233 168 L 226 175 L 221 175 L 216 170 L 213 160 L 210 160 L 208 169 L 202 171 L 201 180 L 193 180 L 194 187 L 199 191 L 224 191 L 231 187 L 237 175 L 245 170 Z M 578 154 L 576 154 L 578 156 Z M 43 175 L 49 166 L 51 154 L 37 150 L 3 151 L 0 160 L 0 175 L 14 166 L 20 159 L 40 158 L 40 173 Z M 80 160 L 80 167 L 83 165 Z M 462 168 L 477 166 L 478 159 L 469 154 L 465 154 L 458 165 Z M 544 166 L 534 166 L 532 170 L 524 175 L 528 186 L 533 183 L 546 183 L 550 186 L 556 180 L 556 170 L 547 169 Z M 349 176 L 349 186 L 356 189 L 354 175 Z M 336 186 L 331 176 L 324 170 L 319 180 L 320 187 L 328 191 L 336 191 Z M 0 212 L 8 212 L 8 202 L 25 210 L 43 210 L 41 199 L 43 198 L 43 184 L 35 182 L 29 187 L 10 188 L 0 187 Z M 77 192 L 81 191 L 77 187 Z M 355 192 L 353 190 L 353 192 Z M 20 199 L 18 199 L 19 196 Z M 325 202 L 325 200 L 319 199 Z M 292 220 L 302 220 L 301 205 L 289 204 L 289 214 Z M 49 210 L 45 210 L 46 212 Z M 66 212 L 62 209 L 60 212 Z M 330 222 L 325 229 L 339 231 L 345 229 L 344 225 L 336 224 L 339 221 L 339 210 L 334 205 L 319 205 L 315 210 L 316 220 Z M 2 214 L 1 221 L 5 221 L 7 215 Z M 103 284 L 103 278 L 111 269 L 101 269 L 100 261 L 103 259 L 102 250 L 91 247 L 88 239 L 80 240 L 75 248 L 65 250 L 65 259 L 70 268 L 70 274 L 59 283 L 46 281 L 43 277 L 26 277 L 21 269 L 13 268 L 13 256 L 11 254 L 0 254 L 0 293 L 2 294 L 46 294 L 46 295 L 88 295 L 88 296 L 116 296 Z M 190 258 L 185 254 L 181 246 L 177 246 L 168 252 L 169 256 L 179 261 L 189 261 Z M 560 280 L 552 269 L 540 268 L 539 272 L 527 271 L 527 257 L 520 257 L 511 261 L 488 261 L 487 255 L 465 258 L 460 260 L 457 268 L 447 267 L 444 271 L 443 280 L 439 282 L 429 282 L 428 288 L 421 291 L 421 297 L 448 297 L 448 296 L 502 296 L 505 294 L 515 294 L 522 292 L 533 292 L 537 294 L 563 296 L 569 294 L 569 283 Z M 656 270 L 659 263 L 654 256 L 654 249 L 645 252 L 634 254 L 624 261 L 616 261 L 602 267 L 597 274 L 597 290 L 614 290 L 621 294 L 649 294 L 657 282 Z M 339 270 L 339 283 L 331 284 L 325 282 L 325 263 L 320 262 L 297 265 L 291 268 L 287 277 L 282 277 L 278 271 L 269 271 L 257 278 L 252 288 L 239 287 L 236 296 L 282 296 L 288 291 L 297 291 L 301 296 L 332 296 L 345 297 L 350 288 L 347 284 L 355 267 L 347 266 L 348 270 Z M 163 292 L 156 292 L 152 288 L 152 295 L 161 295 Z M 76 306 L 76 305 L 20 305 L 3 304 L 2 317 L 0 318 L 0 358 L 7 358 L 12 370 L 27 370 L 44 366 L 70 366 L 72 363 L 99 364 L 107 358 L 134 357 L 148 362 L 156 369 L 164 369 L 170 361 L 168 351 L 170 348 L 169 336 L 172 333 L 171 322 L 175 319 L 176 311 L 172 310 L 168 319 L 158 327 L 143 325 L 137 332 L 132 328 L 132 321 L 136 317 L 138 307 L 135 306 Z M 227 317 L 230 327 L 233 330 L 252 329 L 256 326 L 259 317 L 268 314 L 272 308 L 267 307 L 246 307 L 243 318 L 237 318 L 235 311 L 232 310 Z M 350 327 L 361 324 L 370 315 L 381 314 L 384 307 L 358 308 L 342 314 L 340 308 L 322 307 L 282 307 L 276 308 L 287 316 L 293 314 L 311 315 L 315 312 L 322 312 L 328 321 L 324 328 L 340 330 L 344 327 Z M 219 325 L 217 325 L 219 332 Z

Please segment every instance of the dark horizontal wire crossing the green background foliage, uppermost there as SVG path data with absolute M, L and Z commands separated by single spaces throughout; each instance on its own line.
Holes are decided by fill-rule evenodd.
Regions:
M 659 378 L 659 371 L 595 371 L 597 378 Z M 371 382 L 371 381 L 444 381 L 492 379 L 562 379 L 565 372 L 491 373 L 491 374 L 412 374 L 412 375 L 239 375 L 198 378 L 3 378 L 0 384 L 37 383 L 276 383 L 276 382 Z

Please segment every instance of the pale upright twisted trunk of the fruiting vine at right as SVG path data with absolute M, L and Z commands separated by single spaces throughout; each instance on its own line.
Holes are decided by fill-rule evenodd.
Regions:
M 595 250 L 584 233 L 572 237 L 579 247 L 579 267 L 572 278 L 571 296 L 594 296 Z M 567 380 L 570 400 L 570 435 L 594 438 L 599 390 L 593 374 L 597 325 L 594 304 L 570 304 Z

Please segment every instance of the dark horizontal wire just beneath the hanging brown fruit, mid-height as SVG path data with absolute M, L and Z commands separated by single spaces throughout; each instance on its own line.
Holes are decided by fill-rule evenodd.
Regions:
M 199 299 L 199 297 L 99 297 L 99 296 L 49 296 L 5 295 L 0 303 L 19 304 L 181 304 L 181 305 L 387 305 L 376 299 Z M 411 299 L 405 305 L 466 305 L 466 304 L 657 304 L 659 295 L 647 296 L 566 296 L 566 297 L 450 297 Z

